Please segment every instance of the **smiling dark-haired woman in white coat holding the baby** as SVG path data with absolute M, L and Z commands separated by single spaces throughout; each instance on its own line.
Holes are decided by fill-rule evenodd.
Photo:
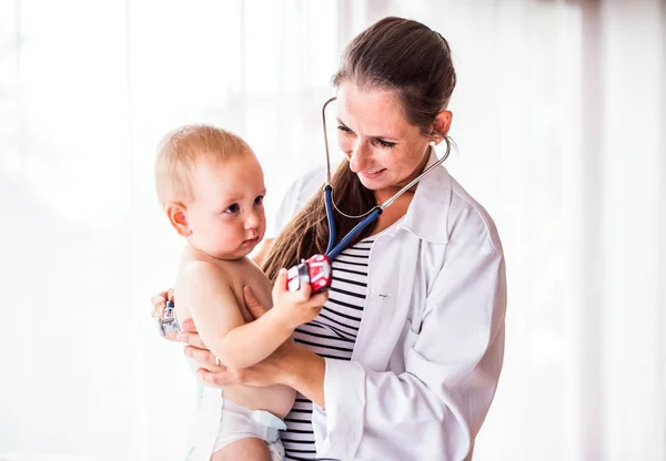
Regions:
M 451 50 L 418 22 L 385 18 L 350 43 L 333 82 L 346 156 L 334 198 L 360 215 L 434 163 L 433 145 L 448 143 Z M 268 253 L 271 279 L 325 252 L 321 177 L 285 197 L 283 212 L 296 214 Z M 335 221 L 340 236 L 357 222 Z M 491 217 L 436 167 L 335 259 L 333 274 L 320 317 L 254 367 L 226 370 L 195 332 L 181 334 L 200 379 L 296 389 L 282 434 L 287 459 L 471 459 L 504 355 L 504 257 Z M 155 309 L 162 303 L 160 295 Z M 254 303 L 253 314 L 262 311 Z

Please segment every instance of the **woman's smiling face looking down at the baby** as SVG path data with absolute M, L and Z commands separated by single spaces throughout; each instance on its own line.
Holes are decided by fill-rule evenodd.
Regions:
M 431 139 L 411 125 L 394 92 L 343 83 L 337 90 L 337 143 L 361 183 L 377 196 L 416 177 Z

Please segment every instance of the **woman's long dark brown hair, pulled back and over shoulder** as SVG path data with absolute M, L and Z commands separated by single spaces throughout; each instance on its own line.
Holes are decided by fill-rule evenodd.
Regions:
M 361 32 L 347 45 L 333 84 L 351 82 L 364 89 L 394 91 L 407 122 L 424 135 L 432 134 L 437 114 L 446 109 L 455 88 L 455 70 L 446 40 L 426 25 L 402 18 L 384 18 Z M 336 195 L 350 215 L 360 215 L 375 205 L 372 191 L 343 162 L 332 178 Z M 291 267 L 302 258 L 323 254 L 329 242 L 323 193 L 312 197 L 275 239 L 263 265 L 274 280 L 278 270 Z M 357 221 L 335 214 L 339 238 Z M 354 243 L 369 236 L 370 225 Z

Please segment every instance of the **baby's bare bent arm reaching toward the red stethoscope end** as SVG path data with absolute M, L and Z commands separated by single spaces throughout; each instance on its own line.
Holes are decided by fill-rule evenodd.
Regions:
M 282 278 L 276 286 L 286 285 L 284 274 Z M 245 368 L 265 359 L 320 310 L 311 307 L 310 290 L 306 298 L 287 294 L 279 297 L 282 303 L 273 309 L 245 324 L 224 273 L 209 263 L 192 264 L 179 285 L 178 300 L 190 309 L 201 340 L 229 368 Z

